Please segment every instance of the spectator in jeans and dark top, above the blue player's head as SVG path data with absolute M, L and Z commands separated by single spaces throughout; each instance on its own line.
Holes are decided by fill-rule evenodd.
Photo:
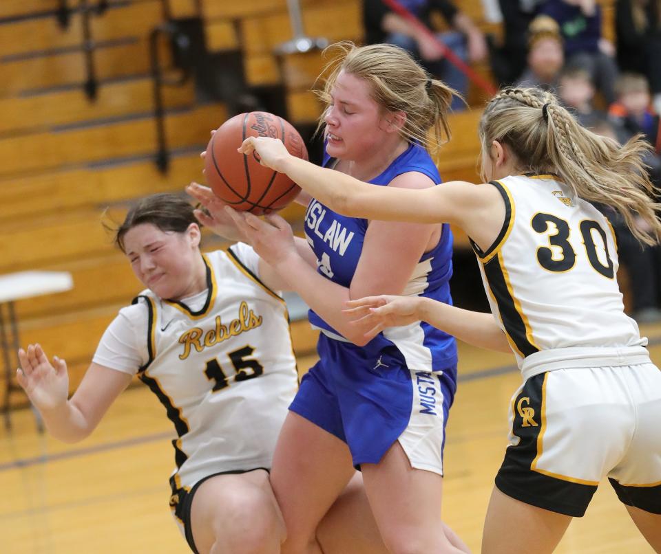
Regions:
M 448 0 L 398 0 L 430 30 L 432 16 L 441 14 L 452 30 L 436 34 L 446 47 L 465 63 L 478 62 L 487 57 L 484 34 L 469 16 Z M 368 44 L 390 43 L 411 52 L 423 67 L 437 76 L 448 87 L 465 98 L 468 76 L 443 56 L 443 49 L 428 34 L 399 16 L 381 0 L 363 0 L 363 21 Z M 465 104 L 455 96 L 452 109 L 459 111 Z

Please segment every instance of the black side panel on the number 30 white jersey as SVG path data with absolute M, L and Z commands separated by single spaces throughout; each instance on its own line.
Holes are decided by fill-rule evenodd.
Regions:
M 529 329 L 523 321 L 523 315 L 516 309 L 511 287 L 505 278 L 503 267 L 501 267 L 500 255 L 491 258 L 490 261 L 483 264 L 483 267 L 489 287 L 498 304 L 507 335 L 510 335 L 512 342 L 524 357 L 538 352 L 539 348 L 528 340 Z

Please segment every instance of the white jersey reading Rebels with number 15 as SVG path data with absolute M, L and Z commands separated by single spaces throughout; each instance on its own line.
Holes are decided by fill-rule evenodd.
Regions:
M 138 377 L 167 410 L 178 438 L 170 483 L 178 490 L 218 472 L 270 468 L 297 390 L 284 300 L 230 249 L 204 256 L 207 301 L 193 312 L 151 291 L 149 359 Z

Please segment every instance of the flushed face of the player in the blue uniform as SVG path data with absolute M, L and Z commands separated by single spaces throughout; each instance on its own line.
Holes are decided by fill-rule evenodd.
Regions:
M 341 71 L 324 115 L 326 152 L 331 157 L 359 160 L 371 155 L 383 138 L 383 110 L 370 97 L 366 80 Z

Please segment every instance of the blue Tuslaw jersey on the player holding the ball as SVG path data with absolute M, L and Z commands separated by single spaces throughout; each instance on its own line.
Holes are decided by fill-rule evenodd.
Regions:
M 324 156 L 324 166 L 333 161 L 328 155 Z M 441 182 L 439 172 L 427 151 L 419 144 L 410 144 L 370 183 L 386 186 L 398 175 L 411 171 L 427 175 L 435 183 Z M 325 278 L 349 287 L 363 250 L 367 227 L 368 220 L 340 215 L 312 199 L 306 212 L 305 233 L 317 256 L 317 271 Z M 383 267 L 375 267 L 375 271 L 388 271 L 389 263 L 389 259 L 384 259 Z M 424 296 L 452 304 L 451 276 L 452 232 L 449 225 L 443 224 L 438 245 L 420 258 L 403 295 Z M 315 311 L 310 310 L 309 319 L 313 326 L 322 329 L 328 336 L 344 339 Z M 364 354 L 374 359 L 381 355 L 395 357 L 409 368 L 423 370 L 441 370 L 457 364 L 454 337 L 425 322 L 386 329 L 364 347 Z

